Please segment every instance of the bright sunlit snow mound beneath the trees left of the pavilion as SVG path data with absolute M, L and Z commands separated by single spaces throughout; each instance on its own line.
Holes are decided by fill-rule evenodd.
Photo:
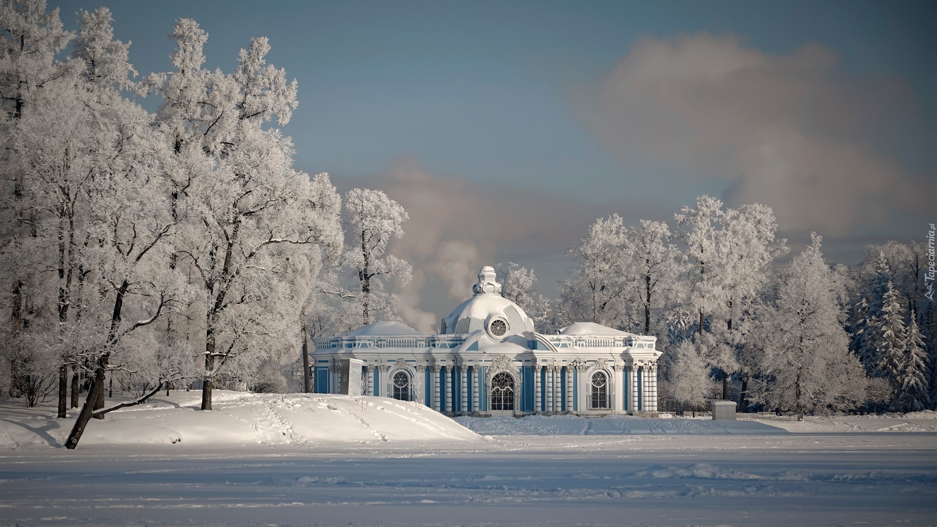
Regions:
M 483 441 L 423 404 L 396 399 L 325 394 L 252 394 L 216 390 L 212 412 L 199 410 L 201 392 L 172 392 L 152 402 L 93 419 L 79 448 L 93 445 L 182 446 L 465 443 Z M 51 407 L 0 405 L 0 448 L 65 444 L 78 415 L 54 418 Z

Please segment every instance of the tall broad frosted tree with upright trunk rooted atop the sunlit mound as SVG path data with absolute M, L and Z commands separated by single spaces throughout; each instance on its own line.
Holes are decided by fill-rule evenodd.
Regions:
M 251 40 L 233 73 L 205 70 L 207 37 L 180 20 L 171 36 L 176 69 L 150 78 L 172 152 L 167 212 L 185 229 L 170 267 L 190 269 L 201 290 L 193 309 L 201 310 L 194 333 L 204 336 L 202 410 L 212 409 L 215 384 L 249 384 L 267 361 L 294 356 L 309 272 L 340 247 L 340 202 L 327 174 L 293 170 L 290 138 L 265 126 L 290 121 L 295 81 L 266 64 L 267 38 Z

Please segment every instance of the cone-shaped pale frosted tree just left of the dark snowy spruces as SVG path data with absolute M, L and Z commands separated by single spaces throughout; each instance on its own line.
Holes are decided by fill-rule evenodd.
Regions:
M 764 349 L 758 399 L 803 419 L 810 412 L 855 407 L 865 375 L 843 328 L 843 279 L 825 263 L 820 236 L 788 264 L 756 310 Z

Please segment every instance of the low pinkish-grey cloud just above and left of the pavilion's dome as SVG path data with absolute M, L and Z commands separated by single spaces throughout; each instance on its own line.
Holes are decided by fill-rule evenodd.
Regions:
M 595 218 L 613 212 L 543 189 L 430 173 L 413 158 L 398 159 L 386 173 L 334 181 L 342 190 L 379 188 L 407 210 L 406 234 L 388 250 L 413 265 L 413 281 L 398 293 L 400 314 L 421 330 L 435 328 L 455 300 L 471 294 L 482 265 L 498 264 L 503 254 L 555 258 Z M 626 210 L 634 222 L 653 214 L 640 206 Z

